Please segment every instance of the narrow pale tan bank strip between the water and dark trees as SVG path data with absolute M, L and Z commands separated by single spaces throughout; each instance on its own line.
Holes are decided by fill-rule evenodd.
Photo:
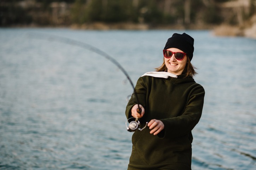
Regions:
M 247 26 L 239 27 L 227 24 L 211 25 L 211 24 L 190 24 L 190 25 L 150 25 L 150 24 L 135 24 L 135 23 L 103 23 L 94 22 L 89 24 L 71 24 L 71 25 L 13 25 L 10 28 L 67 28 L 74 30 L 209 30 L 214 36 L 219 37 L 247 37 L 256 39 L 256 15 L 254 20 Z M 1 27 L 5 28 L 5 27 Z

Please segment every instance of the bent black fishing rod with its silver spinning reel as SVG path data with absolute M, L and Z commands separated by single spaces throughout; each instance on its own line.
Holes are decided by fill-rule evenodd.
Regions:
M 74 40 L 74 39 L 71 39 L 71 38 L 60 37 L 60 36 L 50 35 L 50 34 L 42 34 L 42 33 L 29 33 L 29 36 L 33 37 L 33 38 L 48 39 L 48 40 L 53 40 L 53 41 L 61 42 L 61 43 L 64 43 L 64 44 L 79 46 L 79 47 L 82 47 L 82 48 L 87 49 L 89 51 L 95 52 L 95 53 L 105 57 L 109 61 L 111 61 L 113 64 L 115 64 L 123 72 L 123 74 L 129 80 L 129 82 L 130 82 L 130 84 L 131 84 L 131 86 L 133 88 L 133 92 L 134 92 L 136 101 L 138 103 L 137 112 L 141 113 L 141 108 L 140 108 L 140 105 L 139 105 L 138 95 L 137 95 L 137 93 L 135 91 L 135 87 L 133 85 L 133 82 L 132 82 L 130 76 L 128 75 L 127 71 L 122 67 L 122 65 L 120 63 L 118 63 L 116 61 L 116 59 L 114 59 L 113 57 L 108 55 L 106 52 L 100 50 L 99 48 L 96 48 L 95 46 L 92 46 L 90 44 L 87 44 L 87 43 L 84 43 L 84 42 L 80 42 L 78 40 Z M 127 122 L 126 122 L 126 125 L 127 125 Z M 145 126 L 144 128 L 139 128 L 139 126 L 140 126 L 140 122 L 139 122 L 138 118 L 136 118 L 134 121 L 130 121 L 129 122 L 129 126 L 127 127 L 127 130 L 129 132 L 134 132 L 137 129 L 142 131 L 146 127 Z

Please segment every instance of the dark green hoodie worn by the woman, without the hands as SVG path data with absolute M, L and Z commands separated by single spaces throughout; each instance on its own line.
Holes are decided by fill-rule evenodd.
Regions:
M 204 88 L 193 78 L 159 78 L 142 76 L 135 92 L 139 104 L 145 108 L 140 119 L 145 126 L 151 119 L 161 120 L 164 130 L 150 134 L 149 128 L 136 130 L 132 136 L 132 154 L 129 170 L 135 169 L 191 169 L 192 129 L 198 123 L 203 109 Z M 134 94 L 126 107 L 127 118 L 137 104 Z

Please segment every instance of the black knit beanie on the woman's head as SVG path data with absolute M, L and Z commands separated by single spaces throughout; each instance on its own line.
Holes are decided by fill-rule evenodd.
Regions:
M 180 49 L 185 53 L 187 53 L 187 56 L 191 61 L 193 58 L 193 52 L 194 52 L 193 45 L 194 45 L 194 38 L 192 38 L 188 34 L 174 33 L 173 36 L 167 40 L 167 43 L 165 44 L 164 49 L 165 50 L 169 48 Z

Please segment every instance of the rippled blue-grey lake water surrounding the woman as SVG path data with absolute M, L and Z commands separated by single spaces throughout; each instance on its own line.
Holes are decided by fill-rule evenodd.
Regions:
M 184 31 L 0 29 L 0 169 L 127 169 L 132 86 L 105 57 L 48 35 L 99 48 L 135 84 L 162 64 L 174 32 Z M 195 39 L 194 79 L 206 92 L 192 169 L 256 169 L 256 40 L 186 33 Z

